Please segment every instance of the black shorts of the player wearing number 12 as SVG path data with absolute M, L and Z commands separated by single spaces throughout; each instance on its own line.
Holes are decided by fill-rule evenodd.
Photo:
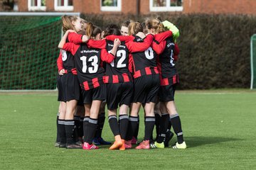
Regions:
M 114 110 L 125 104 L 132 103 L 133 83 L 125 82 L 118 84 L 107 84 L 107 109 Z

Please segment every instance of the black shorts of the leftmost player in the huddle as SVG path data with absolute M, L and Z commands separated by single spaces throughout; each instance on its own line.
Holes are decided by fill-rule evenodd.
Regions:
M 80 84 L 78 76 L 72 73 L 64 74 L 61 77 L 63 83 L 63 96 L 65 101 L 79 100 Z

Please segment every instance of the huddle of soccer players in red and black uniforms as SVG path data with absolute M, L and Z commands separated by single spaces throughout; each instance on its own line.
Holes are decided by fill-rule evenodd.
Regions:
M 178 83 L 178 28 L 147 18 L 105 30 L 77 16 L 63 16 L 58 47 L 57 140 L 67 149 L 186 149 L 174 103 Z M 107 106 L 114 143 L 102 139 Z M 144 108 L 144 139 L 137 142 L 139 111 Z M 118 118 L 117 118 L 118 117 Z M 153 130 L 156 126 L 156 137 Z

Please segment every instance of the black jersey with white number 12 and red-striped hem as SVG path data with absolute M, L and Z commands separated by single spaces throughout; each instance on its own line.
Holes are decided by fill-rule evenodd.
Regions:
M 114 42 L 106 41 L 106 50 L 111 52 Z M 110 64 L 106 64 L 105 83 L 123 83 L 132 81 L 132 75 L 129 72 L 129 50 L 122 41 L 117 47 L 116 57 Z

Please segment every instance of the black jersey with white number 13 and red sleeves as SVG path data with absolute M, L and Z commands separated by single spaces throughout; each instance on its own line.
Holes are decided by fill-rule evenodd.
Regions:
M 78 72 L 78 80 L 82 89 L 90 90 L 104 84 L 105 70 L 101 62 L 112 62 L 114 56 L 107 50 L 89 48 L 85 43 L 75 45 L 65 43 L 64 50 L 70 51 L 75 57 L 75 66 Z

